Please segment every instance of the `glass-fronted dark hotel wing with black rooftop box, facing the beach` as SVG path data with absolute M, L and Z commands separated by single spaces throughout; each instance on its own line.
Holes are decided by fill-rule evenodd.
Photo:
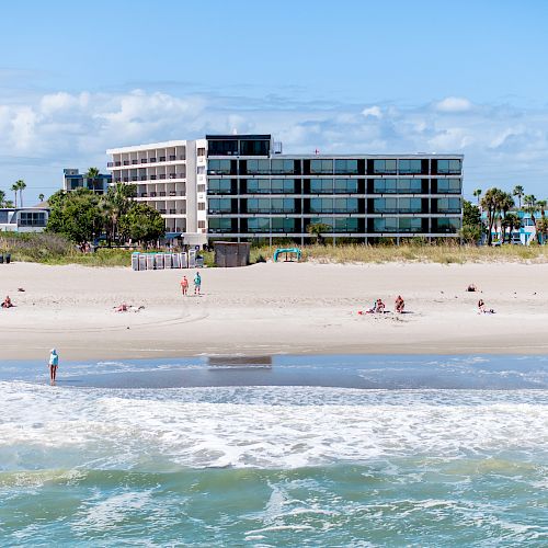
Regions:
M 209 239 L 457 237 L 463 156 L 282 155 L 270 135 L 206 136 Z

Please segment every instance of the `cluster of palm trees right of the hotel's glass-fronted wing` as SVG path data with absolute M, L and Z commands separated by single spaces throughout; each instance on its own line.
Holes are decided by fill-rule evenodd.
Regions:
M 536 228 L 537 242 L 543 243 L 546 239 L 548 235 L 546 199 L 537 199 L 533 194 L 525 194 L 521 185 L 516 185 L 511 193 L 493 187 L 484 194 L 481 189 L 476 189 L 472 194 L 478 201 L 477 205 L 465 201 L 463 208 L 461 237 L 465 240 L 477 242 L 482 233 L 487 232 L 488 244 L 491 244 L 494 229 L 501 235 L 501 242 L 504 242 L 522 226 L 520 216 L 522 212 L 530 216 Z M 517 198 L 517 208 L 514 197 Z M 482 219 L 482 213 L 486 214 L 486 219 Z

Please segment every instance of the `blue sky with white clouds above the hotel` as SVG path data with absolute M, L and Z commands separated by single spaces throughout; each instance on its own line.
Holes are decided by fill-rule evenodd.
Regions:
M 0 189 L 105 149 L 273 133 L 286 152 L 465 153 L 465 193 L 546 198 L 548 2 L 10 2 Z

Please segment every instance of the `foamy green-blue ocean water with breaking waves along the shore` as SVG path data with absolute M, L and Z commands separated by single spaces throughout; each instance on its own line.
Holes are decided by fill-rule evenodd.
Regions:
M 548 358 L 0 362 L 0 546 L 548 546 Z

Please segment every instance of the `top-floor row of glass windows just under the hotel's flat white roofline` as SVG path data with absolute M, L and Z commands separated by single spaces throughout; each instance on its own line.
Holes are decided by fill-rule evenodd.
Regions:
M 441 174 L 459 174 L 463 169 L 461 160 L 432 160 L 432 171 Z M 362 162 L 362 163 L 359 163 Z M 386 160 L 305 160 L 305 172 L 311 175 L 338 174 L 357 175 L 373 174 L 426 174 L 429 172 L 426 159 L 386 159 Z M 362 165 L 362 168 L 361 168 Z M 225 159 L 210 159 L 208 161 L 209 174 L 230 174 L 235 172 L 236 161 Z M 300 160 L 288 159 L 256 159 L 240 160 L 240 173 L 248 174 L 298 174 Z

